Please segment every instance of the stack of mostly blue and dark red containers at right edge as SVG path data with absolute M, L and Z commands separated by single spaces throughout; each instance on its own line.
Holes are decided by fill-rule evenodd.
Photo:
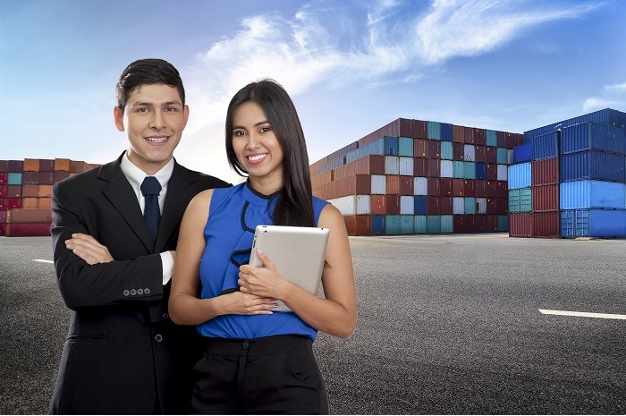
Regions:
M 605 109 L 525 132 L 531 210 L 511 210 L 514 237 L 626 236 L 626 114 Z M 510 188 L 519 170 L 510 170 Z M 511 203 L 511 200 L 510 200 Z

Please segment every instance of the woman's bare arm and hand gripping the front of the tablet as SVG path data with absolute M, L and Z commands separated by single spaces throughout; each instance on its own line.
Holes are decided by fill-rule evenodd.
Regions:
M 301 290 L 284 280 L 266 255 L 259 254 L 264 267 L 241 266 L 241 292 L 275 297 L 318 331 L 345 338 L 357 321 L 357 297 L 348 233 L 341 212 L 327 205 L 318 226 L 330 229 L 326 263 L 322 273 L 325 298 Z

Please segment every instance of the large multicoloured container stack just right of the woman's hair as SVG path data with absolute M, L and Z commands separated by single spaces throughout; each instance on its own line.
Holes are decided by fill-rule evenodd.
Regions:
M 397 119 L 310 166 L 350 235 L 508 230 L 507 166 L 521 134 Z

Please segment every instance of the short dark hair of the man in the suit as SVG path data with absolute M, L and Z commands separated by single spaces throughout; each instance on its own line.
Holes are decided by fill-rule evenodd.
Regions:
M 173 64 L 163 59 L 140 59 L 128 65 L 120 75 L 120 81 L 115 87 L 117 107 L 123 111 L 132 91 L 142 85 L 151 84 L 165 84 L 178 89 L 181 104 L 185 105 L 185 89 L 182 87 L 181 75 Z

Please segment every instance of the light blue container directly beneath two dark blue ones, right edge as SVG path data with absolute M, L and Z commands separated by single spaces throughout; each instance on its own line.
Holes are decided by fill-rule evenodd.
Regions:
M 626 208 L 626 183 L 582 180 L 560 186 L 561 209 Z

